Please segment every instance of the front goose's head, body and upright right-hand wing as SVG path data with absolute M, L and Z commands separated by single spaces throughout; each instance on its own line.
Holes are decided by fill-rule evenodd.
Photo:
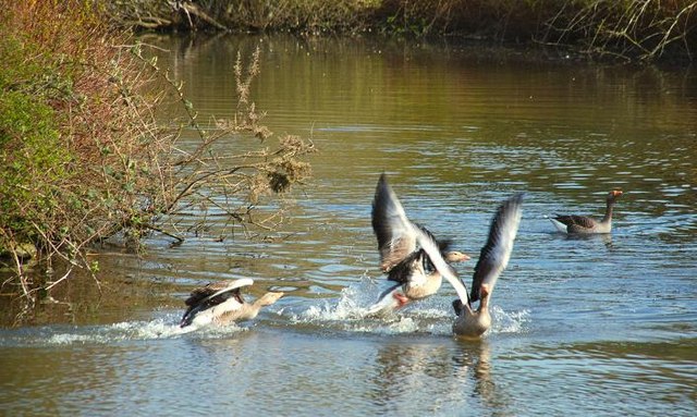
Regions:
M 472 293 L 453 302 L 457 318 L 453 333 L 465 338 L 478 338 L 491 327 L 489 302 L 499 275 L 509 265 L 513 241 L 523 214 L 523 194 L 516 194 L 499 206 L 489 229 L 487 244 L 481 248 L 472 278 Z M 464 284 L 463 284 L 464 286 Z M 473 303 L 479 301 L 474 309 Z

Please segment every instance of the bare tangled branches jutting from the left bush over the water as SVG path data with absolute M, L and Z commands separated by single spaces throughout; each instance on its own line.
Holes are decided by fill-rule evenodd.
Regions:
M 252 56 L 246 72 L 237 53 L 233 68 L 237 107 L 231 120 L 217 120 L 217 128 L 212 131 L 198 124 L 197 113 L 185 98 L 182 84 L 159 69 L 156 60 L 146 59 L 139 47 L 135 53 L 175 90 L 187 114 L 187 123 L 182 126 L 192 126 L 198 137 L 198 143 L 189 149 L 172 147 L 167 170 L 162 171 L 170 183 L 161 194 L 162 199 L 151 205 L 152 213 L 157 214 L 152 220 L 157 219 L 161 225 L 149 221 L 142 226 L 180 242 L 187 232 L 199 233 L 204 229 L 215 233 L 218 240 L 224 238 L 234 226 L 245 233 L 250 226 L 274 230 L 283 219 L 283 210 L 280 207 L 259 210 L 259 206 L 265 197 L 283 194 L 311 175 L 310 164 L 302 158 L 314 152 L 315 147 L 309 140 L 286 135 L 279 138 L 274 148 L 231 150 L 244 148 L 239 145 L 245 136 L 254 136 L 265 145 L 272 135 L 260 124 L 262 114 L 249 98 L 252 81 L 260 71 L 259 49 Z M 181 133 L 180 127 L 174 142 Z M 171 228 L 169 231 L 166 224 Z

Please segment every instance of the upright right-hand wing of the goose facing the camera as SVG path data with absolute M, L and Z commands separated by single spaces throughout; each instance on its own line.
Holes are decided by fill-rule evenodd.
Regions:
M 472 278 L 470 302 L 479 299 L 481 284 L 487 284 L 490 291 L 501 272 L 509 265 L 513 241 L 521 224 L 523 214 L 523 194 L 516 194 L 499 206 L 489 229 L 487 244 L 481 248 L 479 259 Z

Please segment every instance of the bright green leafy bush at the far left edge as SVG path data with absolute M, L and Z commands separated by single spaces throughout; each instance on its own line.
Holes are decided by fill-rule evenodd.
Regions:
M 61 204 L 58 184 L 70 175 L 71 155 L 49 106 L 68 81 L 32 59 L 35 51 L 14 36 L 0 37 L 0 252 L 8 234 L 38 243 L 36 225 Z

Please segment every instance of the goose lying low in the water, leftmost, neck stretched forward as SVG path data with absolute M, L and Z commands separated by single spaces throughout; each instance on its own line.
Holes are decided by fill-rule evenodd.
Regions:
M 185 303 L 188 306 L 182 317 L 180 327 L 189 324 L 201 327 L 210 323 L 228 324 L 233 321 L 252 320 L 261 307 L 270 306 L 283 296 L 280 292 L 264 294 L 254 303 L 247 303 L 240 290 L 250 286 L 254 281 L 244 278 L 235 281 L 210 283 L 192 291 Z

